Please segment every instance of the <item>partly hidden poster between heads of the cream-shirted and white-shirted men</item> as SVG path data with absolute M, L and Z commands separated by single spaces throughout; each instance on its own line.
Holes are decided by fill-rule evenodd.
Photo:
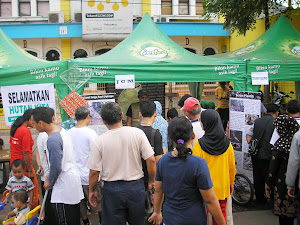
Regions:
M 107 128 L 100 116 L 100 109 L 105 103 L 115 102 L 115 94 L 82 95 L 82 97 L 87 100 L 87 107 L 90 110 L 89 127 L 95 130 L 98 135 L 103 134 Z

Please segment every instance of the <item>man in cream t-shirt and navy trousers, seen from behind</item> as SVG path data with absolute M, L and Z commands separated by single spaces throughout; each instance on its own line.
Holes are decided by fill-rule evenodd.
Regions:
M 95 191 L 99 173 L 104 181 L 102 189 L 102 225 L 144 224 L 145 188 L 141 157 L 146 160 L 152 190 L 156 163 L 152 147 L 144 132 L 122 125 L 123 113 L 117 103 L 106 103 L 100 115 L 109 129 L 100 135 L 92 147 L 88 160 L 90 168 L 89 201 L 97 205 Z

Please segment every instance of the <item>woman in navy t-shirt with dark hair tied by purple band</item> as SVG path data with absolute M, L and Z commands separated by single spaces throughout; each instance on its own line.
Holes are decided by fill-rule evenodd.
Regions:
M 174 118 L 168 127 L 169 152 L 157 164 L 154 213 L 149 222 L 159 225 L 206 225 L 208 211 L 219 225 L 225 225 L 204 159 L 191 155 L 195 137 L 185 117 Z M 164 195 L 164 206 L 163 203 Z

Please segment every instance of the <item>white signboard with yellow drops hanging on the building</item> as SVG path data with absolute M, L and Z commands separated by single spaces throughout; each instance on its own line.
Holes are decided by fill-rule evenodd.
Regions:
M 130 34 L 133 29 L 132 3 L 122 1 L 82 1 L 82 34 Z

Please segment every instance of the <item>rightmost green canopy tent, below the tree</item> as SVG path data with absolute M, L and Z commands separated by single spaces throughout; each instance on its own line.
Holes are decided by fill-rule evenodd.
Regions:
M 261 37 L 242 49 L 210 58 L 247 61 L 246 90 L 257 91 L 251 72 L 268 72 L 270 81 L 300 81 L 300 34 L 284 15 Z

